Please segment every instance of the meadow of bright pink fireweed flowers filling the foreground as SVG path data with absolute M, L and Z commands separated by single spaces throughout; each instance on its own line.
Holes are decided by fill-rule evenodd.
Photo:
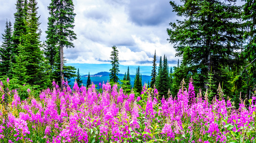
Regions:
M 8 88 L 8 82 L 5 81 Z M 255 92 L 239 109 L 218 91 L 214 100 L 196 94 L 193 82 L 178 95 L 161 100 L 157 89 L 143 87 L 141 95 L 126 94 L 116 84 L 61 91 L 53 87 L 20 100 L 16 90 L 0 81 L 1 142 L 255 142 Z M 4 98 L 9 98 L 5 122 Z

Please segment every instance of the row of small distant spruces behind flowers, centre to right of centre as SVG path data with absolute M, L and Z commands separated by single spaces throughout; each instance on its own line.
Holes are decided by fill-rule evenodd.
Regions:
M 168 61 L 167 57 L 164 55 L 163 59 L 162 56 L 160 56 L 159 61 L 159 67 L 157 68 L 157 59 L 156 59 L 156 51 L 154 54 L 154 60 L 153 60 L 153 69 L 151 74 L 151 82 L 148 81 L 148 83 L 142 83 L 142 75 L 140 73 L 140 67 L 136 69 L 136 75 L 134 79 L 134 85 L 132 87 L 131 84 L 131 77 L 129 72 L 129 67 L 127 67 L 127 72 L 124 73 L 123 79 L 118 78 L 119 71 L 119 60 L 118 60 L 118 49 L 116 46 L 112 47 L 113 51 L 111 52 L 111 64 L 112 69 L 110 69 L 110 82 L 113 85 L 114 83 L 118 83 L 118 81 L 121 82 L 120 86 L 123 88 L 125 92 L 133 92 L 140 94 L 143 86 L 146 85 L 147 88 L 156 88 L 158 90 L 158 93 L 160 95 L 160 98 L 164 96 L 167 98 L 168 95 L 171 94 L 170 89 L 172 90 L 172 84 L 173 84 L 173 69 L 172 67 L 168 67 Z M 78 78 L 77 78 L 78 80 Z M 88 76 L 89 80 L 89 76 Z

